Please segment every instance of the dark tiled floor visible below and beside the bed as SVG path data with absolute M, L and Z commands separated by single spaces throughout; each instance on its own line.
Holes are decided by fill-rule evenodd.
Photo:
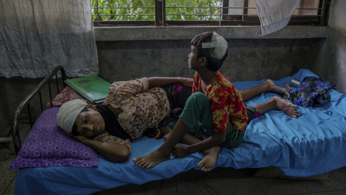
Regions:
M 0 195 L 14 194 L 17 169 L 7 166 L 15 158 L 8 144 L 0 144 Z M 327 180 L 253 177 L 256 169 L 215 168 L 209 173 L 189 170 L 170 179 L 142 185 L 128 184 L 94 195 L 113 194 L 304 194 L 345 195 L 346 167 L 331 171 Z

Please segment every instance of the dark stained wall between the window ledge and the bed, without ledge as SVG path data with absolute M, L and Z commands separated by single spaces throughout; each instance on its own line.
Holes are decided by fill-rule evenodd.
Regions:
M 227 39 L 228 57 L 220 72 L 231 81 L 290 76 L 293 66 L 311 64 L 311 39 Z M 189 69 L 190 40 L 97 41 L 99 70 L 106 80 L 138 77 L 193 77 Z M 313 50 L 313 52 L 319 52 Z

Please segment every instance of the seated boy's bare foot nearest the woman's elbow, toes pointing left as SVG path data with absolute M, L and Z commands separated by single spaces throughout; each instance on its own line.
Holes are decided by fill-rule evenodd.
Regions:
M 160 150 L 156 149 L 147 155 L 144 155 L 138 158 L 133 158 L 132 160 L 136 163 L 138 167 L 148 169 L 148 168 L 154 167 L 157 164 L 162 163 L 163 161 L 169 160 L 170 156 L 171 154 L 169 154 L 168 156 L 165 156 Z

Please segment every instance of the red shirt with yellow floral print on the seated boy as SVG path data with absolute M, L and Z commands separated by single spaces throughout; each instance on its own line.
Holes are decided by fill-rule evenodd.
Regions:
M 193 77 L 192 93 L 202 92 L 201 81 L 201 77 L 196 72 Z M 228 121 L 231 122 L 234 129 L 246 129 L 248 118 L 243 97 L 219 71 L 207 88 L 207 97 L 211 105 L 215 132 L 227 131 Z

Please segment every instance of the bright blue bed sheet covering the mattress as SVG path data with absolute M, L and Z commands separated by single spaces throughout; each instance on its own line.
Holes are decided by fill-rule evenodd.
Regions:
M 292 78 L 303 80 L 316 76 L 307 69 L 274 81 L 285 88 Z M 248 89 L 265 80 L 234 82 L 238 90 Z M 294 88 L 292 88 L 294 89 Z M 297 106 L 298 119 L 280 111 L 269 111 L 252 120 L 243 142 L 233 149 L 220 151 L 215 167 L 260 168 L 275 166 L 285 175 L 308 177 L 346 166 L 346 97 L 329 91 L 331 101 L 319 108 Z M 263 103 L 274 93 L 263 93 L 248 106 Z M 197 168 L 202 153 L 164 161 L 150 169 L 135 166 L 132 158 L 148 154 L 163 143 L 163 139 L 143 137 L 131 142 L 131 155 L 124 163 L 111 163 L 98 156 L 97 168 L 72 166 L 22 168 L 16 176 L 15 194 L 91 194 L 129 183 L 143 184 L 170 178 Z

